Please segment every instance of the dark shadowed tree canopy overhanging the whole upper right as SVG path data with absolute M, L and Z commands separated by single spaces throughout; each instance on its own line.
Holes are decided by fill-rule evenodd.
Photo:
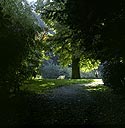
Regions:
M 99 59 L 102 63 L 113 61 L 114 65 L 116 61 L 124 65 L 125 2 L 123 0 L 53 0 L 46 5 L 40 7 L 43 17 L 56 20 L 76 32 L 75 36 L 71 34 L 72 40 L 75 40 L 72 46 L 76 46 L 77 38 L 80 52 L 90 58 Z M 119 82 L 124 83 L 124 75 L 120 77 L 122 78 L 119 78 Z

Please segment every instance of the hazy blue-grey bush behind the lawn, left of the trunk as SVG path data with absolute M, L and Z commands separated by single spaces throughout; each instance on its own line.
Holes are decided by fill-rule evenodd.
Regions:
M 61 66 L 54 64 L 53 62 L 43 64 L 40 70 L 43 78 L 57 79 L 61 75 L 64 75 L 65 78 L 71 77 L 70 68 L 62 68 Z

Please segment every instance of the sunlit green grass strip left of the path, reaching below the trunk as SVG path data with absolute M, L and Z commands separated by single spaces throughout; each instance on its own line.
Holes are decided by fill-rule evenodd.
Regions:
M 72 84 L 86 84 L 91 82 L 93 82 L 92 79 L 34 79 L 26 81 L 20 89 L 40 94 L 60 86 L 69 86 Z

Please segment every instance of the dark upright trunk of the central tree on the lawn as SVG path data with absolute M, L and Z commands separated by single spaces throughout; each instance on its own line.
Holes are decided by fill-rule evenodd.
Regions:
M 80 58 L 72 56 L 72 79 L 80 79 Z

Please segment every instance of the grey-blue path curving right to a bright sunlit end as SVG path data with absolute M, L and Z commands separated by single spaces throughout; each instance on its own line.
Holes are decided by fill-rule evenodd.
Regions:
M 69 98 L 74 99 L 75 97 L 78 98 L 78 95 L 85 95 L 89 98 L 92 98 L 89 96 L 89 92 L 84 90 L 83 88 L 85 86 L 97 86 L 102 85 L 103 82 L 101 79 L 95 79 L 94 82 L 89 84 L 74 84 L 71 86 L 63 86 L 59 88 L 52 89 L 49 94 L 49 98 L 53 100 L 68 100 Z

